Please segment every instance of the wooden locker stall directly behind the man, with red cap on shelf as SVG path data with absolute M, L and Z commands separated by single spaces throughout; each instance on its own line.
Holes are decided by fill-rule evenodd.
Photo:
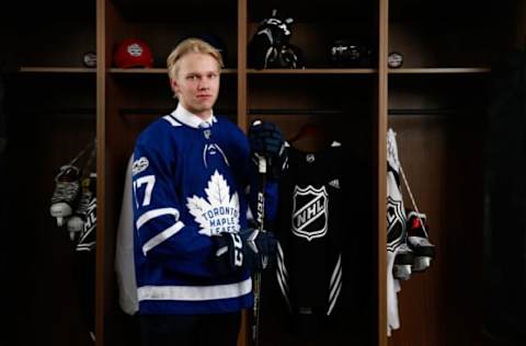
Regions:
M 101 138 L 99 171 L 105 198 L 100 207 L 103 231 L 98 247 L 98 344 L 134 345 L 137 326 L 118 307 L 115 277 L 115 240 L 127 161 L 138 134 L 176 106 L 170 90 L 165 58 L 176 44 L 192 35 L 215 34 L 228 50 L 216 114 L 236 122 L 237 109 L 237 3 L 235 1 L 99 0 L 98 134 Z M 153 56 L 152 68 L 121 69 L 113 51 L 121 41 L 144 41 Z

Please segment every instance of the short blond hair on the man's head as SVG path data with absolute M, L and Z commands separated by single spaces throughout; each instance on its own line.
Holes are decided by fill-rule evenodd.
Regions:
M 170 79 L 175 79 L 179 72 L 179 60 L 190 53 L 208 54 L 216 59 L 219 71 L 224 67 L 221 54 L 214 48 L 214 46 L 199 38 L 186 38 L 181 42 L 167 58 L 168 76 Z

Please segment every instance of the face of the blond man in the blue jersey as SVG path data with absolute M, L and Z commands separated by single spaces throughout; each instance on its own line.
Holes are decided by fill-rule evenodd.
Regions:
M 178 74 L 170 83 L 179 102 L 205 119 L 210 115 L 219 93 L 219 66 L 208 54 L 186 54 L 179 60 Z

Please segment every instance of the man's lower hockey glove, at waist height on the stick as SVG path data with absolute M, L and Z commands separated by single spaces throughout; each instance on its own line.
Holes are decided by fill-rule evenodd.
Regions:
M 219 273 L 231 274 L 247 268 L 250 273 L 272 267 L 276 257 L 276 239 L 272 232 L 252 228 L 239 233 L 221 233 L 213 238 Z

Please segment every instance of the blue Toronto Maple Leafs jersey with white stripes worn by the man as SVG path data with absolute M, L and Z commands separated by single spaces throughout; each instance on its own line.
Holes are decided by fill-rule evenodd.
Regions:
M 211 116 L 204 123 L 179 105 L 137 140 L 133 199 L 139 313 L 221 313 L 253 303 L 250 274 L 219 276 L 210 239 L 247 227 L 248 140 L 227 119 Z M 277 187 L 267 185 L 266 195 L 272 216 Z

